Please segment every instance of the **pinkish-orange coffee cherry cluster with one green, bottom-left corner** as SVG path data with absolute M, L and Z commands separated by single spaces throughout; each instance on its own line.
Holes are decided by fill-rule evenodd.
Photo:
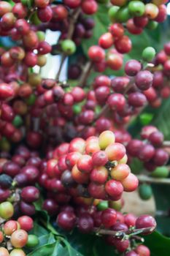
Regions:
M 28 234 L 34 227 L 31 217 L 26 215 L 17 220 L 12 219 L 9 202 L 4 202 L 3 217 L 0 227 L 0 255 L 3 256 L 26 256 L 24 247 L 34 247 L 39 244 L 39 239 L 35 235 Z M 9 219 L 9 220 L 7 220 Z

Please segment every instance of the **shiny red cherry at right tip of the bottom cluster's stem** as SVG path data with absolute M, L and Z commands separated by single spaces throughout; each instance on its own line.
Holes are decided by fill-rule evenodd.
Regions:
M 144 228 L 144 227 L 150 227 L 149 231 L 146 231 L 143 233 L 144 235 L 148 235 L 148 234 L 152 233 L 153 230 L 155 230 L 156 222 L 152 216 L 142 215 L 136 219 L 135 225 L 136 225 L 137 229 Z

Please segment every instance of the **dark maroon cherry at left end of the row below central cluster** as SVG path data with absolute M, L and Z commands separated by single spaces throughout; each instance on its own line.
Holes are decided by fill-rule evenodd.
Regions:
M 61 211 L 56 221 L 59 227 L 71 231 L 76 224 L 76 217 L 72 212 Z

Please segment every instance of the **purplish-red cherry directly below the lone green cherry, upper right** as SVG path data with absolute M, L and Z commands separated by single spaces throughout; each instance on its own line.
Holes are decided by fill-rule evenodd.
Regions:
M 144 70 L 144 71 L 140 71 L 136 75 L 135 83 L 136 83 L 136 86 L 143 91 L 143 90 L 149 89 L 150 86 L 152 86 L 152 80 L 153 80 L 152 73 L 150 71 Z

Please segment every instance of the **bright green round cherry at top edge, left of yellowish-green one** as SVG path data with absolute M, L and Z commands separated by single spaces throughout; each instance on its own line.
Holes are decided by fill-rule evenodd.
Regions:
M 130 1 L 128 10 L 133 16 L 140 17 L 144 15 L 145 5 L 142 1 Z

